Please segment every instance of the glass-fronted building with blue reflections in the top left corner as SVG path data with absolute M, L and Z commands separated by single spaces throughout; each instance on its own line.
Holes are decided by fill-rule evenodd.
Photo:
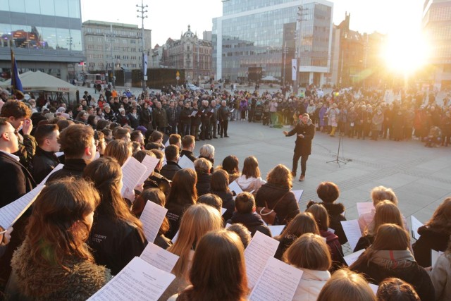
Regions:
M 83 60 L 80 0 L 0 0 L 0 68 L 11 70 L 10 47 L 20 73 L 40 70 L 73 78 L 68 64 Z

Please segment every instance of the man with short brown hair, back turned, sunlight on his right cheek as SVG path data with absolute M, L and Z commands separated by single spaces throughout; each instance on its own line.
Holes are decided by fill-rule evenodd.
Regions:
M 60 133 L 58 142 L 64 152 L 64 166 L 52 173 L 46 184 L 68 176 L 81 177 L 87 164 L 96 155 L 94 130 L 89 125 L 69 125 Z

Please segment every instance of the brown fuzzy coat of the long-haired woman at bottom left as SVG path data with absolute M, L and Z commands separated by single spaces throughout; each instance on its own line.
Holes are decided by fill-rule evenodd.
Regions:
M 61 266 L 39 266 L 31 259 L 31 247 L 27 239 L 16 250 L 11 260 L 13 287 L 30 300 L 87 300 L 110 279 L 105 266 L 98 266 L 83 259 L 66 261 L 68 271 Z

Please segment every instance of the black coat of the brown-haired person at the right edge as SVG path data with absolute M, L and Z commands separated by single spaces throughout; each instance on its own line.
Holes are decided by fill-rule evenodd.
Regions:
M 450 233 L 422 226 L 418 228 L 418 234 L 421 236 L 412 245 L 412 249 L 414 250 L 416 262 L 426 268 L 431 266 L 431 250 L 445 252 L 450 239 Z

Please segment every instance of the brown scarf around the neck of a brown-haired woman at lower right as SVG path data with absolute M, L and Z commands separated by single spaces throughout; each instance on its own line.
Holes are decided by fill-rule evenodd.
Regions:
M 402 269 L 415 263 L 410 250 L 378 250 L 373 253 L 370 261 L 384 269 Z

